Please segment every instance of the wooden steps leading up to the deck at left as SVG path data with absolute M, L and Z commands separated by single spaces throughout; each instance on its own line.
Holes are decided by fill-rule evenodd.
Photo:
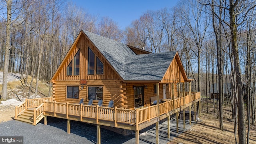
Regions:
M 40 116 L 38 120 L 36 120 L 36 124 L 40 122 L 44 118 L 44 115 Z M 21 121 L 21 122 L 26 122 L 28 124 L 34 124 L 34 109 L 27 109 L 27 111 L 22 112 L 15 120 Z

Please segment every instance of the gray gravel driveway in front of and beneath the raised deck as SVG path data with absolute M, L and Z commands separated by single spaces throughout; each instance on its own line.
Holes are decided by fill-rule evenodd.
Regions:
M 176 120 L 170 120 L 171 138 L 167 138 L 167 121 L 159 125 L 159 143 L 166 144 L 176 133 Z M 183 129 L 183 121 L 179 121 L 179 134 L 189 130 L 189 122 Z M 156 143 L 156 128 L 142 130 L 140 144 Z M 67 133 L 67 120 L 48 116 L 48 125 L 38 123 L 36 126 L 23 122 L 10 120 L 0 123 L 0 136 L 24 136 L 24 144 L 96 144 L 97 128 L 94 125 L 71 120 L 71 132 Z M 101 128 L 102 144 L 134 144 L 135 135 L 122 136 L 115 132 Z

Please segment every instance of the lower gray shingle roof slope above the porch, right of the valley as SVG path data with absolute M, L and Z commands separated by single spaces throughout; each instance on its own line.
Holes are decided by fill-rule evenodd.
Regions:
M 125 80 L 162 80 L 176 52 L 126 57 Z

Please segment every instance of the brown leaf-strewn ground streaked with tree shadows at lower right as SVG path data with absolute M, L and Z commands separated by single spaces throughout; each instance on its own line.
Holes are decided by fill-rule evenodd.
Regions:
M 224 107 L 224 131 L 219 130 L 219 120 L 214 118 L 213 108 L 209 108 L 208 114 L 205 108 L 201 113 L 201 122 L 194 124 L 190 130 L 180 134 L 168 144 L 235 144 L 234 122 L 228 121 L 232 116 L 229 109 L 230 107 Z M 249 138 L 249 144 L 256 144 L 256 126 L 251 126 Z M 238 142 L 238 130 L 236 140 Z

